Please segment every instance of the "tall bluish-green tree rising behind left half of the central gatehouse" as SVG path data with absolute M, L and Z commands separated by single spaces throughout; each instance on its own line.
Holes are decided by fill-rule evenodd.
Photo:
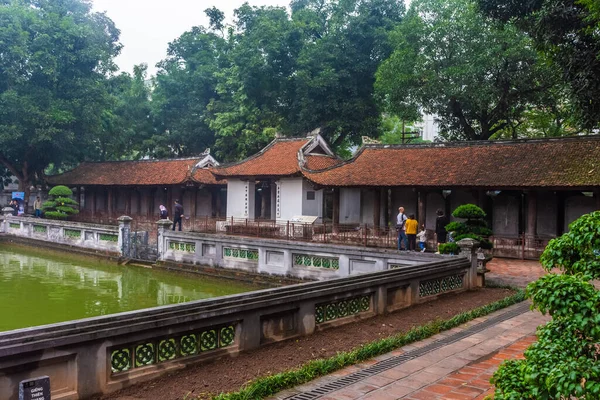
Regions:
M 216 74 L 215 97 L 208 110 L 217 155 L 243 158 L 260 150 L 284 129 L 301 36 L 279 7 L 235 10 L 230 32 L 229 67 Z

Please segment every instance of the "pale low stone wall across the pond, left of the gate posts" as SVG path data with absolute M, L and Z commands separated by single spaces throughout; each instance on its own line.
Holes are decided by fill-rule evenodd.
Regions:
M 119 227 L 5 215 L 0 231 L 11 236 L 83 249 L 121 252 Z

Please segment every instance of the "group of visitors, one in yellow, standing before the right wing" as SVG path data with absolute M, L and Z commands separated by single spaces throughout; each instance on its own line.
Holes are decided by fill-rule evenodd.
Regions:
M 435 220 L 435 240 L 438 246 L 441 243 L 446 243 L 448 238 L 446 232 L 448 218 L 444 215 L 442 209 L 437 210 Z M 396 231 L 398 232 L 398 250 L 399 251 L 417 251 L 417 239 L 419 239 L 419 250 L 424 252 L 427 248 L 427 230 L 425 225 L 421 225 L 421 229 L 417 233 L 419 223 L 415 219 L 414 214 L 408 216 L 404 213 L 404 207 L 398 208 L 398 216 L 396 217 Z

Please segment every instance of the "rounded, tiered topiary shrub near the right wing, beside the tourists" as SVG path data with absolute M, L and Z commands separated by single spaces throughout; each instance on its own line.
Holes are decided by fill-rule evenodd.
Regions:
M 492 242 L 488 239 L 492 235 L 492 231 L 487 227 L 484 219 L 486 215 L 481 208 L 475 204 L 463 204 L 456 207 L 452 216 L 466 220 L 464 222 L 453 221 L 446 225 L 446 231 L 453 232 L 455 241 L 471 238 L 479 241 L 483 249 L 492 248 Z

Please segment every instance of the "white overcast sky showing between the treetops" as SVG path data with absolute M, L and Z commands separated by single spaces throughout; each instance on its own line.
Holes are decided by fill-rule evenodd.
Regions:
M 243 0 L 93 0 L 95 11 L 106 14 L 121 30 L 123 50 L 116 62 L 123 71 L 132 72 L 136 64 L 155 64 L 165 58 L 167 45 L 192 26 L 208 26 L 204 10 L 216 6 L 228 21 Z M 289 0 L 248 0 L 253 6 L 287 6 Z

